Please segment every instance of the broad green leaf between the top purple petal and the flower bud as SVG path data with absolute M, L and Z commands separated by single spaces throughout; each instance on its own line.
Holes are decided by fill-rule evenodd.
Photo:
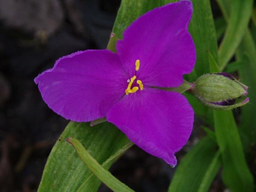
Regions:
M 189 25 L 189 32 L 195 43 L 196 64 L 195 71 L 198 76 L 209 72 L 209 60 L 207 50 L 212 53 L 217 61 L 217 38 L 212 17 L 212 11 L 209 0 L 192 0 L 193 15 Z M 189 79 L 195 81 L 196 79 Z

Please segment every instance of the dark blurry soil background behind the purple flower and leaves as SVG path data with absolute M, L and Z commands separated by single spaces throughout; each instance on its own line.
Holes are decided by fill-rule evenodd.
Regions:
M 0 192 L 35 192 L 68 121 L 52 112 L 33 79 L 63 55 L 105 49 L 120 0 L 0 0 Z M 218 12 L 218 11 L 217 11 Z M 198 141 L 192 137 L 178 161 Z M 136 146 L 111 172 L 137 192 L 166 192 L 175 169 Z M 220 180 L 212 191 L 223 190 Z M 102 185 L 100 192 L 109 192 Z

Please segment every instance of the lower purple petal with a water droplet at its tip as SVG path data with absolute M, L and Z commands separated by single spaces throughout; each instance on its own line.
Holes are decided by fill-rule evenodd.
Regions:
M 107 120 L 140 148 L 175 166 L 174 153 L 189 139 L 194 112 L 180 93 L 148 88 L 117 102 Z

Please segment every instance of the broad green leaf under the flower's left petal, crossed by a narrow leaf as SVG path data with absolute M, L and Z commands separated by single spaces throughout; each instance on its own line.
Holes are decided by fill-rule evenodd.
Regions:
M 89 123 L 70 122 L 52 148 L 38 192 L 76 191 L 91 176 L 73 147 L 65 142 L 67 137 L 80 140 L 100 164 L 113 159 L 113 154 L 131 145 L 128 138 L 108 122 L 94 127 L 90 127 Z

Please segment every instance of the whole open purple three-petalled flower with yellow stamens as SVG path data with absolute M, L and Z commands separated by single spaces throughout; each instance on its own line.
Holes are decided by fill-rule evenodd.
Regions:
M 44 101 L 76 122 L 106 116 L 143 150 L 175 166 L 194 112 L 177 92 L 195 64 L 188 32 L 192 3 L 183 0 L 139 17 L 123 32 L 116 53 L 86 50 L 64 56 L 35 78 Z

